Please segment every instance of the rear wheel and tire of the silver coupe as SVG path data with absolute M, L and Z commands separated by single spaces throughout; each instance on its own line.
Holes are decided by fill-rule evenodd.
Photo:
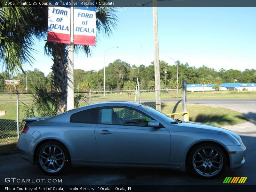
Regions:
M 41 144 L 36 153 L 36 162 L 47 175 L 59 175 L 68 170 L 71 163 L 67 148 L 57 141 Z

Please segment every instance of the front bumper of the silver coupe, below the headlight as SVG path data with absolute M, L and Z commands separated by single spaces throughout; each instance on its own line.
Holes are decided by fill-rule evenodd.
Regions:
M 245 151 L 246 147 L 244 144 L 241 146 L 227 146 L 228 151 L 236 151 L 235 154 L 229 154 L 229 160 L 230 160 L 230 170 L 238 169 L 242 167 L 245 163 Z

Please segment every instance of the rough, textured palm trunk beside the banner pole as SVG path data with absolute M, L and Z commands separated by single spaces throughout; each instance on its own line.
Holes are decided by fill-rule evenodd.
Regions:
M 58 106 L 58 113 L 62 113 L 67 109 L 67 44 L 52 43 L 52 60 L 52 86 L 57 92 L 60 92 L 56 97 L 58 97 L 60 103 Z

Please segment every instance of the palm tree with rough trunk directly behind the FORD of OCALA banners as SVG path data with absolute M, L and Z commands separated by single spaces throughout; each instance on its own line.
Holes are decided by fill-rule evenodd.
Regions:
M 98 32 L 103 32 L 105 36 L 112 34 L 112 29 L 116 27 L 116 15 L 113 10 L 106 7 L 96 7 L 96 28 Z M 67 44 L 47 42 L 44 52 L 48 56 L 52 56 L 52 86 L 55 91 L 60 92 L 59 112 L 64 112 L 67 107 L 67 67 L 68 67 L 68 46 Z M 91 55 L 88 45 L 75 45 L 74 51 L 83 51 L 87 56 Z

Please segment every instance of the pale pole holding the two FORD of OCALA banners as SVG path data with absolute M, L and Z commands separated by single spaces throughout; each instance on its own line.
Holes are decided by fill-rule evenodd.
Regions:
M 71 0 L 74 3 L 74 0 Z M 68 45 L 68 95 L 67 110 L 74 108 L 74 5 L 71 5 L 70 44 Z M 63 93 L 65 94 L 65 93 Z

